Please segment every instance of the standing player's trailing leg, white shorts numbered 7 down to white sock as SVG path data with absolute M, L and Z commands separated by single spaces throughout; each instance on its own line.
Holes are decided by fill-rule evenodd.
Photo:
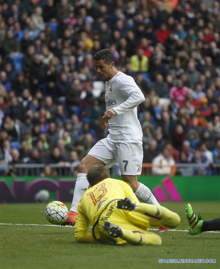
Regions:
M 129 184 L 141 201 L 148 204 L 160 205 L 151 190 L 137 181 L 141 174 L 143 161 L 143 148 L 140 143 L 117 143 L 116 159 L 120 165 L 123 181 Z

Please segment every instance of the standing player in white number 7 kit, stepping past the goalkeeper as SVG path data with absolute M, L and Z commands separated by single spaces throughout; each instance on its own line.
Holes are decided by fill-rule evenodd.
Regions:
M 63 225 L 75 224 L 79 201 L 89 187 L 86 174 L 94 164 L 110 168 L 118 162 L 123 181 L 132 187 L 137 198 L 159 205 L 150 189 L 137 181 L 143 161 L 143 133 L 137 106 L 145 97 L 132 77 L 117 71 L 111 51 L 98 51 L 94 55 L 94 65 L 101 79 L 106 80 L 106 112 L 102 120 L 106 128 L 109 126 L 109 135 L 98 141 L 78 164 L 73 202 Z

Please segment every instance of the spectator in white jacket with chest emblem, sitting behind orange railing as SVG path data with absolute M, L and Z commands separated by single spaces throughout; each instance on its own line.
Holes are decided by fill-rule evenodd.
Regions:
M 170 175 L 172 166 L 175 166 L 175 160 L 171 155 L 172 145 L 166 143 L 163 151 L 152 160 L 153 175 Z

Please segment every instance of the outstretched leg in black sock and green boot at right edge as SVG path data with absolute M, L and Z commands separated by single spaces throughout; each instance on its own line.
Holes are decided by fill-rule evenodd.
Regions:
M 207 231 L 220 230 L 220 218 L 203 221 L 200 215 L 195 215 L 192 206 L 187 204 L 185 214 L 188 222 L 188 229 L 191 235 L 196 235 Z

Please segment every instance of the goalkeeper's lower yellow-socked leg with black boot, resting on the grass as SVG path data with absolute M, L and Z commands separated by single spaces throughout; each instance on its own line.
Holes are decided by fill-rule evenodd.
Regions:
M 115 238 L 116 244 L 123 244 L 123 239 L 132 245 L 161 245 L 161 238 L 155 233 L 149 233 L 144 231 L 137 231 L 137 227 L 133 227 L 132 230 L 123 229 L 117 225 L 106 221 L 103 225 L 103 229 L 113 238 Z M 102 231 L 103 233 L 103 231 Z M 118 239 L 120 238 L 120 239 Z

